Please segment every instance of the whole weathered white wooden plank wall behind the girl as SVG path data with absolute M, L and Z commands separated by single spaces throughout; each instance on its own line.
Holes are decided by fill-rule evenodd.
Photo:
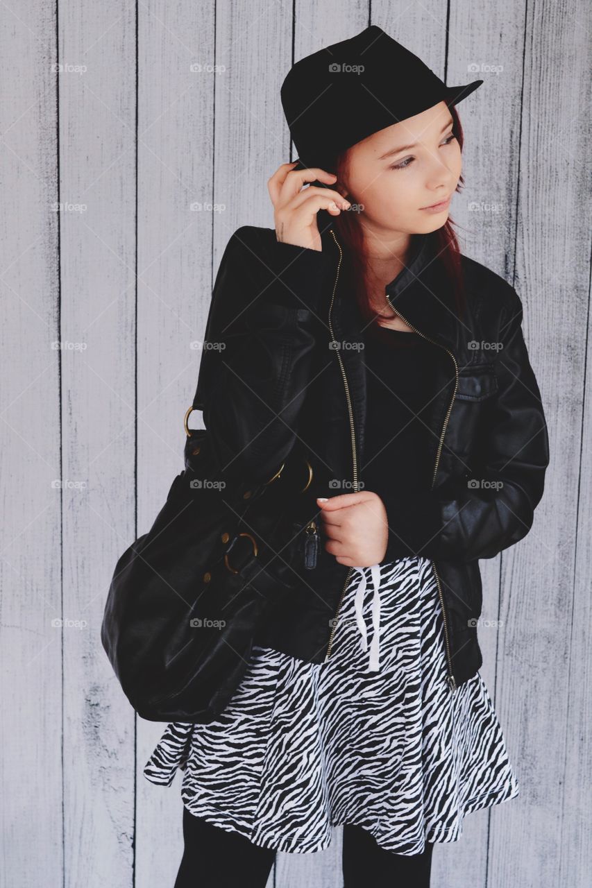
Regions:
M 173 884 L 180 776 L 143 778 L 164 725 L 134 716 L 100 645 L 108 582 L 182 467 L 221 252 L 273 226 L 284 75 L 375 23 L 448 83 L 484 79 L 459 107 L 452 217 L 523 298 L 552 455 L 531 534 L 482 562 L 501 621 L 482 674 L 521 795 L 436 846 L 432 881 L 588 885 L 588 4 L 23 0 L 2 23 L 0 883 Z M 268 884 L 340 888 L 340 834 L 278 854 Z

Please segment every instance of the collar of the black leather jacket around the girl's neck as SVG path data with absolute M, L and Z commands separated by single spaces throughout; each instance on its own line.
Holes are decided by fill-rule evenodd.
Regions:
M 319 210 L 317 225 L 323 249 L 336 250 L 335 218 Z M 340 242 L 341 250 L 345 245 Z M 339 253 L 335 253 L 339 260 Z M 337 267 L 337 266 L 336 266 Z M 388 299 L 401 317 L 430 339 L 454 350 L 462 321 L 458 316 L 452 284 L 444 273 L 434 233 L 414 234 L 409 263 L 387 284 Z

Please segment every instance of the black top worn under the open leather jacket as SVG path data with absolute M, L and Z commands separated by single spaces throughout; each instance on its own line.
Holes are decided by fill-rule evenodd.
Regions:
M 369 327 L 364 335 L 367 415 L 364 434 L 364 490 L 377 493 L 388 516 L 385 561 L 421 553 L 434 533 L 429 522 L 420 539 L 405 521 L 414 501 L 429 496 L 437 442 L 428 416 L 436 396 L 437 361 L 442 349 L 419 333 Z M 423 531 L 421 527 L 421 531 Z

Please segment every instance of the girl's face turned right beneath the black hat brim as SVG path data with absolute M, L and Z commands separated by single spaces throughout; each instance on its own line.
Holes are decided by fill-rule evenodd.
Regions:
M 374 234 L 428 234 L 445 224 L 460 170 L 460 145 L 442 101 L 351 147 L 339 190 L 362 205 L 360 221 Z

